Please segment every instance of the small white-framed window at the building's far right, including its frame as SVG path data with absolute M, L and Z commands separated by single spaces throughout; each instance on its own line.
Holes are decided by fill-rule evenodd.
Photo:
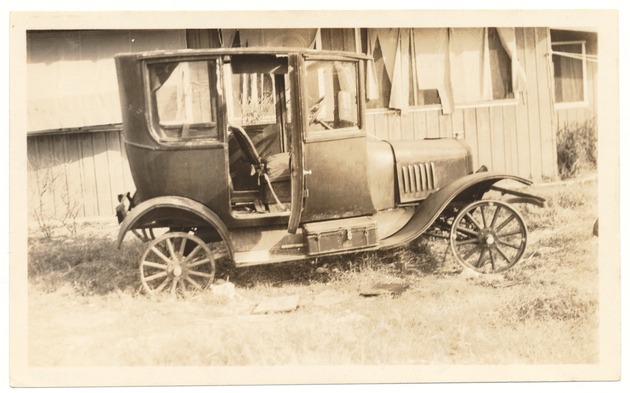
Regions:
M 586 102 L 585 41 L 556 42 L 553 49 L 554 96 L 556 104 L 581 105 Z

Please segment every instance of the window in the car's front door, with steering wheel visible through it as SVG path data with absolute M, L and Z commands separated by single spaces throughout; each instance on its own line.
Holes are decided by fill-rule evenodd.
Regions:
M 358 128 L 357 64 L 330 60 L 305 64 L 309 134 Z

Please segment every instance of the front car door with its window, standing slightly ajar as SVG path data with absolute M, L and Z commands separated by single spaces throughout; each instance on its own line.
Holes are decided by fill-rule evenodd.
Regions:
M 361 64 L 342 56 L 303 56 L 298 62 L 302 113 L 299 146 L 293 144 L 299 157 L 294 183 L 302 183 L 303 195 L 292 202 L 301 201 L 299 222 L 371 214 Z

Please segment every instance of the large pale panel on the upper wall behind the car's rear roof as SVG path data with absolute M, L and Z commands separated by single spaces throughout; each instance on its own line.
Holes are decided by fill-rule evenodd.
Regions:
M 120 123 L 113 56 L 185 48 L 186 31 L 47 31 L 27 40 L 27 130 L 37 132 Z

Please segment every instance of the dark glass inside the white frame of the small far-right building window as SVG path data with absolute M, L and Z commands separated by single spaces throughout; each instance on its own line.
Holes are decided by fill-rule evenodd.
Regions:
M 553 45 L 553 50 L 582 54 L 581 44 Z M 584 75 L 582 60 L 565 55 L 553 55 L 556 102 L 584 101 Z

